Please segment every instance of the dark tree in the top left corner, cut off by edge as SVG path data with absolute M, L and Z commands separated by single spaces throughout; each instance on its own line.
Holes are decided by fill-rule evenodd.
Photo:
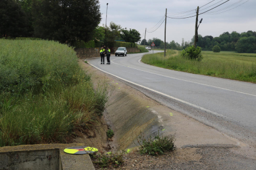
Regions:
M 17 37 L 27 34 L 27 17 L 18 2 L 1 0 L 0 20 L 0 37 Z

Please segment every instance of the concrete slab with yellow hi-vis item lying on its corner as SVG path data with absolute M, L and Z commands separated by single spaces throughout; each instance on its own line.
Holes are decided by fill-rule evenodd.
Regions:
M 0 169 L 95 169 L 88 154 L 70 155 L 65 148 L 84 144 L 0 147 Z M 40 160 L 40 161 L 38 161 Z

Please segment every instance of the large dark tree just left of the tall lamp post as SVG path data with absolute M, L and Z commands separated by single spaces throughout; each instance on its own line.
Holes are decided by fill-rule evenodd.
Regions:
M 70 44 L 91 40 L 101 21 L 99 3 L 98 0 L 33 0 L 34 36 Z

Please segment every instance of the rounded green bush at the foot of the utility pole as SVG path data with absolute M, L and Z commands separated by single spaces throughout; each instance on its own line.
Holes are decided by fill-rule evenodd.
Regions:
M 189 46 L 181 52 L 181 56 L 185 59 L 197 60 L 198 62 L 200 62 L 203 59 L 203 55 L 201 54 L 201 52 L 201 47 L 195 48 L 194 46 Z

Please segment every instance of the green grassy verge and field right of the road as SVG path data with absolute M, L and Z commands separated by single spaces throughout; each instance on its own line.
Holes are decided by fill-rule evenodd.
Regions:
M 202 54 L 201 62 L 186 60 L 179 51 L 169 51 L 165 58 L 163 53 L 147 54 L 142 62 L 171 70 L 256 83 L 256 54 L 210 51 Z

